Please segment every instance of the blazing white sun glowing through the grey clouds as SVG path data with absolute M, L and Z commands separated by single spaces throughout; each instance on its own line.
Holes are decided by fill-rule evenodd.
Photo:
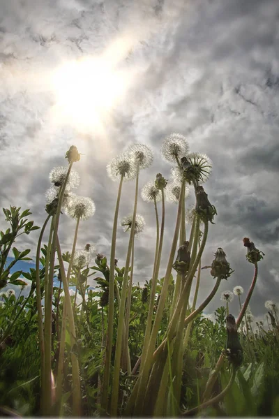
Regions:
M 123 96 L 127 79 L 104 58 L 68 61 L 54 71 L 54 114 L 80 127 L 104 124 L 110 109 Z

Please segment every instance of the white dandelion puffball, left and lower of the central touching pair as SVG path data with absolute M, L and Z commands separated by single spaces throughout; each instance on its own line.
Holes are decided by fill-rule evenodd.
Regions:
M 120 180 L 121 177 L 125 181 L 135 179 L 137 175 L 135 162 L 128 153 L 119 154 L 119 156 L 114 157 L 111 163 L 107 165 L 107 175 L 113 181 Z

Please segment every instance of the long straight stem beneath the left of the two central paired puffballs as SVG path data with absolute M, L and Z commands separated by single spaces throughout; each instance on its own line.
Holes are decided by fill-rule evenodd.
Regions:
M 123 184 L 123 176 L 119 182 L 119 190 L 116 200 L 116 207 L 114 212 L 114 224 L 112 228 L 112 245 L 110 252 L 110 285 L 109 285 L 109 307 L 107 314 L 107 344 L 105 348 L 105 369 L 103 376 L 103 393 L 101 405 L 105 411 L 108 406 L 108 392 L 110 385 L 110 366 L 112 359 L 112 338 L 113 338 L 113 324 L 114 324 L 114 260 L 115 260 L 115 248 L 116 248 L 116 231 L 117 231 L 117 220 L 119 214 L 119 203 L 121 198 L 121 190 Z

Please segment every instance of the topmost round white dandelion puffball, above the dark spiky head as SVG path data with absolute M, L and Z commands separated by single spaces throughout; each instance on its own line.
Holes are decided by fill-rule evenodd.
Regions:
M 162 156 L 167 161 L 177 161 L 189 151 L 186 138 L 181 134 L 170 134 L 165 140 L 161 149 Z

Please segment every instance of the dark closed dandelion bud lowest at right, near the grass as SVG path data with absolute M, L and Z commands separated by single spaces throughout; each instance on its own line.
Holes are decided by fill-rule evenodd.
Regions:
M 236 321 L 232 314 L 226 318 L 227 326 L 227 358 L 234 367 L 240 367 L 243 360 L 243 349 L 239 341 L 239 334 L 236 328 Z

